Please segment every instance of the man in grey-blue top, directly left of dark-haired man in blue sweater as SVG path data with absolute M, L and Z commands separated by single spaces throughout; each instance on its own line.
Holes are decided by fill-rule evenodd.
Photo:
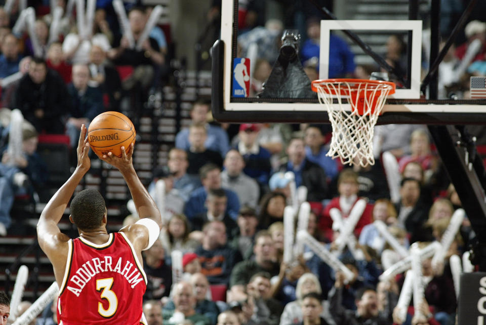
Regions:
M 187 152 L 179 148 L 169 150 L 167 167 L 169 167 L 169 171 L 174 177 L 174 188 L 179 191 L 184 202 L 187 201 L 191 192 L 201 186 L 198 176 L 187 174 L 187 168 L 189 167 Z

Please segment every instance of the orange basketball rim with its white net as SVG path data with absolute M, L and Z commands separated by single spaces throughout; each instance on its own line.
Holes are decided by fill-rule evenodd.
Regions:
M 356 86 L 353 88 L 351 85 Z M 333 159 L 339 157 L 343 164 L 359 164 L 362 167 L 374 165 L 374 128 L 386 97 L 393 87 L 388 84 L 346 81 L 322 82 L 314 84 L 314 87 L 317 89 L 319 102 L 328 111 L 333 127 L 327 155 Z M 349 96 L 351 92 L 357 94 L 354 100 Z M 361 92 L 363 94 L 359 94 Z M 343 97 L 347 98 L 351 111 L 345 110 L 347 105 L 342 103 Z M 337 104 L 333 102 L 333 98 L 337 98 Z M 356 109 L 360 100 L 364 101 L 360 104 L 363 106 L 362 115 Z

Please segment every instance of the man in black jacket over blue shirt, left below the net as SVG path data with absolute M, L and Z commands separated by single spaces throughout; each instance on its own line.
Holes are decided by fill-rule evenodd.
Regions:
M 279 172 L 293 172 L 295 185 L 307 187 L 307 200 L 319 202 L 328 198 L 326 173 L 319 165 L 305 157 L 305 143 L 302 138 L 293 138 L 287 147 L 288 161 L 280 165 Z

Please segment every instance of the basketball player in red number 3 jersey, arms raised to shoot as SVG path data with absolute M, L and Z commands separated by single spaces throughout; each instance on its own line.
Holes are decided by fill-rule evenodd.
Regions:
M 158 238 L 161 217 L 132 165 L 133 144 L 121 158 L 111 152 L 102 159 L 125 178 L 140 220 L 117 233 L 106 231 L 107 213 L 98 191 L 79 192 L 70 205 L 69 220 L 79 237 L 69 239 L 57 223 L 74 189 L 91 166 L 87 129 L 83 125 L 77 147 L 77 167 L 54 194 L 37 224 L 39 245 L 54 268 L 59 285 L 60 324 L 146 324 L 142 296 L 146 289 L 141 251 Z

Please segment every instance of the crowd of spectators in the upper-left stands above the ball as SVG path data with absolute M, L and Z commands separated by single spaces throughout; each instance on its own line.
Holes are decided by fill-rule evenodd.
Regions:
M 65 2 L 59 6 L 68 10 Z M 150 28 L 152 8 L 127 7 L 131 7 L 126 8 L 130 31 L 120 29 L 123 24 L 117 22 L 111 5 L 92 13 L 92 24 L 84 26 L 92 25 L 92 31 L 79 30 L 84 24 L 77 24 L 68 12 L 54 21 L 55 15 L 41 4 L 33 8 L 34 25 L 29 20 L 22 28 L 27 11 L 14 6 L 7 12 L 0 7 L 0 235 L 6 235 L 12 224 L 14 197 L 38 201 L 35 193 L 43 191 L 48 180 L 48 168 L 36 154 L 39 135 L 67 137 L 74 152 L 83 124 L 88 127 L 104 111 L 139 114 L 137 107 L 161 86 L 167 73 L 164 32 L 154 26 L 142 39 L 145 28 Z M 132 36 L 139 47 L 129 44 Z M 11 124 L 14 110 L 23 117 L 18 133 Z M 12 141 L 13 137 L 22 139 Z M 15 157 L 9 157 L 12 152 Z M 183 202 L 168 208 L 181 213 Z

